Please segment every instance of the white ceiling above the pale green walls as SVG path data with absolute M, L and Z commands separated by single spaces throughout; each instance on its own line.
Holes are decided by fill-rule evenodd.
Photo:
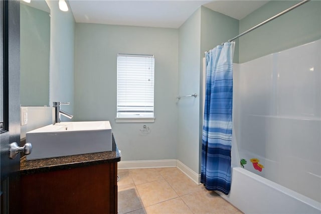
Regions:
M 268 1 L 69 0 L 77 23 L 179 28 L 200 6 L 242 19 Z

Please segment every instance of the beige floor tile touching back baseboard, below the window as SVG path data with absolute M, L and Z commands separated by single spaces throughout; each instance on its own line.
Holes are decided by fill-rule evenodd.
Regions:
M 157 168 L 130 169 L 129 173 L 130 173 L 135 185 L 139 185 L 142 183 L 148 183 L 150 181 L 155 181 L 155 180 L 163 178 Z

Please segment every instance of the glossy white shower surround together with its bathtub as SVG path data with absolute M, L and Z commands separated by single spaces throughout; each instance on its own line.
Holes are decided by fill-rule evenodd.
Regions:
M 235 167 L 221 195 L 245 213 L 321 213 L 320 52 L 317 40 L 234 64 Z

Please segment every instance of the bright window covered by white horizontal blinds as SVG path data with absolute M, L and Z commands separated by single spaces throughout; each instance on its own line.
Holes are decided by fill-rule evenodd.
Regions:
M 154 56 L 118 54 L 116 122 L 153 122 Z

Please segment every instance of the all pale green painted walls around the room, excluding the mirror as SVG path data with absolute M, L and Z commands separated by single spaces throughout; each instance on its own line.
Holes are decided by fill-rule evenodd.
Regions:
M 52 15 L 50 100 L 72 102 L 63 108 L 75 121 L 111 121 L 122 160 L 178 159 L 198 174 L 204 51 L 296 2 L 271 1 L 241 21 L 201 7 L 179 29 L 75 24 L 71 13 L 47 3 Z M 234 61 L 319 39 L 320 4 L 306 3 L 243 36 Z M 115 123 L 117 53 L 155 55 L 154 123 Z M 192 93 L 198 96 L 176 99 Z M 140 132 L 143 125 L 149 134 Z

